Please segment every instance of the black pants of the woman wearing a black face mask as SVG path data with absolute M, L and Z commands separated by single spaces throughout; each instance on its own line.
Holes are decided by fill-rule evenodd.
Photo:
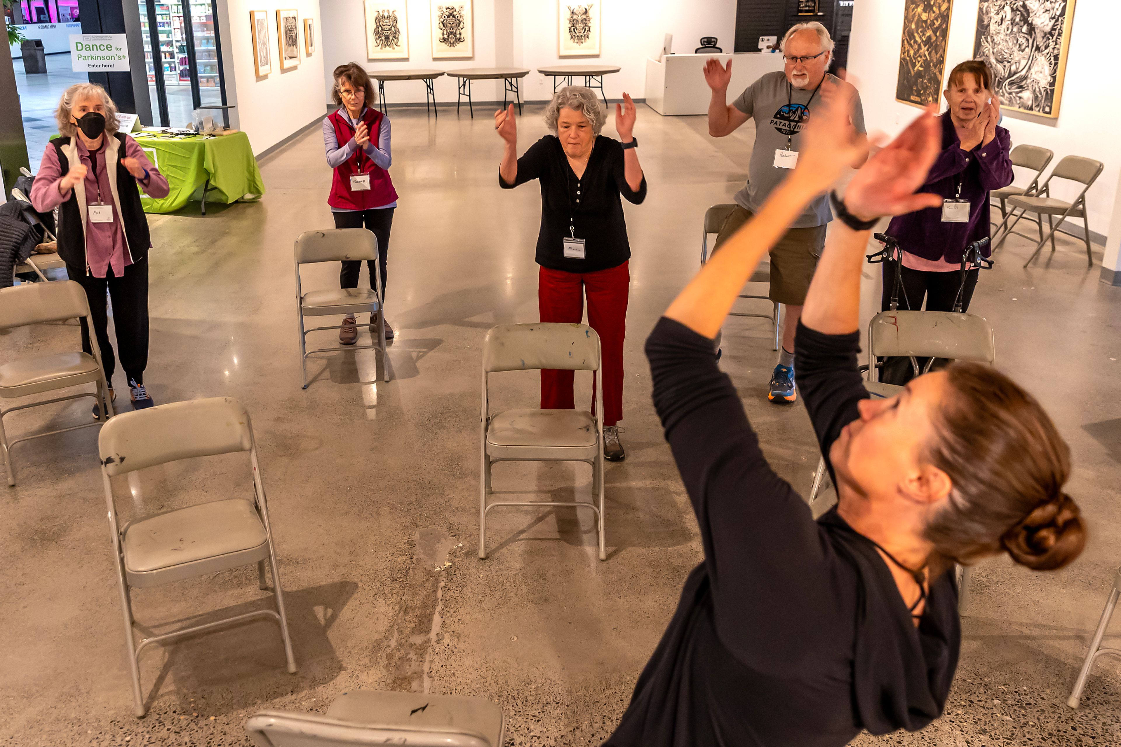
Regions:
M 105 367 L 105 381 L 112 386 L 113 371 L 117 370 L 105 314 L 108 291 L 113 301 L 113 326 L 117 328 L 117 351 L 121 367 L 129 381 L 142 384 L 143 370 L 148 367 L 148 258 L 126 267 L 124 274 L 120 278 L 113 276 L 112 265 L 104 278 L 94 278 L 85 273 L 85 268 L 74 267 L 68 262 L 66 274 L 85 289 L 93 332 L 98 335 L 101 362 Z M 82 319 L 82 349 L 93 354 L 85 319 Z

